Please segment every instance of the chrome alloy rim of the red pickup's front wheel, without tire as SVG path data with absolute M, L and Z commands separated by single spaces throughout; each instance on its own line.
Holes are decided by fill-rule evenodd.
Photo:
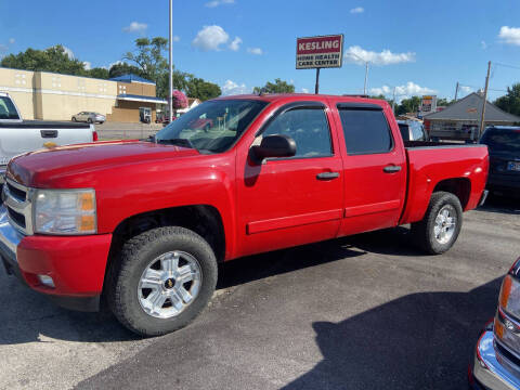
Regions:
M 166 252 L 144 269 L 138 285 L 138 298 L 146 314 L 157 318 L 179 315 L 200 290 L 200 264 L 192 255 Z

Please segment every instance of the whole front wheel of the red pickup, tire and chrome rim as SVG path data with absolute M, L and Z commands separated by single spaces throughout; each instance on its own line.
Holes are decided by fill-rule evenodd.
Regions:
M 110 269 L 108 304 L 130 330 L 159 336 L 190 324 L 217 285 L 209 244 L 183 227 L 158 227 L 128 240 Z

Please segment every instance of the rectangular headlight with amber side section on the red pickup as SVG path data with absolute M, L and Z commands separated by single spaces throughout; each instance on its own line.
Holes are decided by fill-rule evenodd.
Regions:
M 37 190 L 35 233 L 93 234 L 98 231 L 94 190 Z

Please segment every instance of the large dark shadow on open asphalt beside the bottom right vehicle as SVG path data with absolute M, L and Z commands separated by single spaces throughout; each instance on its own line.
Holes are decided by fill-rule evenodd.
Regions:
M 412 294 L 339 323 L 315 322 L 323 361 L 283 389 L 465 389 L 500 281 L 469 292 Z

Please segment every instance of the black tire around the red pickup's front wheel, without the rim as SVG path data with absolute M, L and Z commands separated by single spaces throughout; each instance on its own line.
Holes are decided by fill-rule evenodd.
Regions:
M 193 256 L 200 266 L 202 284 L 194 301 L 176 316 L 158 318 L 142 309 L 138 298 L 141 275 L 162 253 L 179 250 Z M 109 270 L 107 300 L 115 316 L 142 336 L 159 336 L 190 324 L 208 304 L 217 285 L 217 259 L 198 234 L 178 226 L 158 227 L 125 243 Z

